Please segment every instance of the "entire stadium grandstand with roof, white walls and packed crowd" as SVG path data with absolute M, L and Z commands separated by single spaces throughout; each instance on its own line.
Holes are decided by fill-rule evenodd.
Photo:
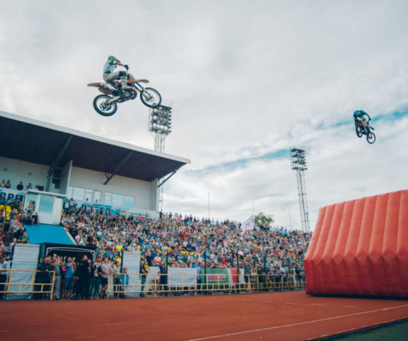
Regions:
M 98 299 L 112 292 L 116 296 L 120 288 L 121 294 L 143 296 L 152 286 L 157 292 L 159 283 L 166 283 L 159 287 L 165 294 L 237 287 L 281 290 L 304 284 L 307 233 L 256 228 L 243 235 L 237 222 L 157 212 L 160 184 L 188 159 L 0 114 L 1 253 L 12 264 L 11 270 L 58 267 L 56 276 L 63 280 L 68 257 L 74 271 L 81 273 L 79 260 L 87 255 L 95 278 L 102 278 L 98 271 L 104 258 L 120 273 L 109 273 L 107 292 L 102 294 L 100 281 L 97 289 L 91 284 L 93 276 L 86 279 L 85 291 L 79 280 L 70 294 L 63 292 L 60 278 L 40 279 L 54 283 L 56 298 Z M 58 266 L 49 255 L 56 256 Z M 132 269 L 130 280 L 120 280 L 125 267 Z M 146 276 L 140 276 L 145 271 Z M 124 281 L 130 283 L 127 288 Z M 10 289 L 13 285 L 7 287 L 13 299 Z M 22 298 L 21 292 L 14 294 Z M 53 297 L 50 292 L 42 296 Z

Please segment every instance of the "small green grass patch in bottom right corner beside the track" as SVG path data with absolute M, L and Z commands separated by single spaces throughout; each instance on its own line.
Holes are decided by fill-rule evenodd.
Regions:
M 362 333 L 345 335 L 337 340 L 347 341 L 407 341 L 408 340 L 408 321 L 390 324 L 375 328 Z

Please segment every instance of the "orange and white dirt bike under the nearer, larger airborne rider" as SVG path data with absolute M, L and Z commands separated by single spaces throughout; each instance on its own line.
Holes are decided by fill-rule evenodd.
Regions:
M 128 68 L 126 69 L 128 70 Z M 97 95 L 93 100 L 93 108 L 102 116 L 112 116 L 118 110 L 118 103 L 134 100 L 140 94 L 140 100 L 149 108 L 157 108 L 162 103 L 162 96 L 153 88 L 144 88 L 141 84 L 149 83 L 147 79 L 135 79 L 128 73 L 116 84 L 90 83 L 103 95 Z M 126 84 L 123 86 L 123 84 Z

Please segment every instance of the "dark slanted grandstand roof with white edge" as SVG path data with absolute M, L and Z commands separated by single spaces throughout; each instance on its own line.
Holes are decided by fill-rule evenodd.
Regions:
M 189 159 L 0 111 L 0 156 L 35 164 L 72 166 L 152 181 Z M 70 138 L 72 136 L 72 138 Z M 118 169 L 119 168 L 119 169 Z

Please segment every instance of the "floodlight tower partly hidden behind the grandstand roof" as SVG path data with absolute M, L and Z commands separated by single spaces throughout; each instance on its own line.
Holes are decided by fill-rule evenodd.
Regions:
M 171 106 L 150 109 L 149 132 L 155 134 L 155 151 L 164 152 L 166 136 L 171 133 Z M 159 210 L 163 210 L 163 182 L 159 184 Z

